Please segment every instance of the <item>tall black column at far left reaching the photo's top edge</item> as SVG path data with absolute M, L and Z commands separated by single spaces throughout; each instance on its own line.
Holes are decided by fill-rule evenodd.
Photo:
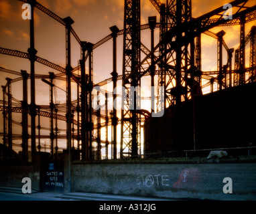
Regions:
M 36 86 L 35 86 L 35 62 L 38 51 L 35 49 L 35 35 L 34 35 L 34 7 L 35 0 L 29 0 L 31 5 L 31 19 L 30 19 L 30 47 L 27 50 L 30 60 L 30 106 L 29 114 L 31 116 L 31 155 L 34 158 L 36 154 Z

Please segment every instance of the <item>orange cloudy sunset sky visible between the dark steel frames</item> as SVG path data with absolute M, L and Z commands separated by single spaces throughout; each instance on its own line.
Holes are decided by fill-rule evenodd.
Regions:
M 161 0 L 165 3 L 165 0 Z M 39 3 L 47 7 L 58 16 L 64 18 L 70 16 L 74 20 L 72 25 L 74 31 L 82 41 L 97 43 L 105 36 L 111 33 L 109 27 L 117 25 L 123 29 L 124 1 L 122 0 L 38 0 Z M 253 1 L 252 1 L 253 2 Z M 202 1 L 192 0 L 192 16 L 198 17 L 212 11 L 217 7 L 222 7 L 229 1 L 215 0 Z M 255 4 L 255 3 L 254 3 Z M 17 49 L 27 52 L 29 48 L 29 21 L 23 20 L 21 13 L 23 3 L 17 0 L 0 0 L 0 47 L 8 49 Z M 149 0 L 141 0 L 141 24 L 147 23 L 149 16 L 159 14 Z M 250 31 L 251 26 L 256 25 L 256 21 L 247 23 L 245 34 Z M 225 42 L 229 48 L 239 46 L 239 26 L 215 27 L 211 29 L 214 33 L 225 30 Z M 159 35 L 159 30 L 155 30 L 155 35 Z M 122 49 L 123 37 L 118 41 L 117 72 L 122 74 Z M 141 41 L 150 49 L 150 31 L 145 30 L 141 33 Z M 37 56 L 54 62 L 65 67 L 65 28 L 63 25 L 48 17 L 42 11 L 35 10 L 35 48 L 38 50 Z M 78 66 L 80 60 L 80 47 L 72 37 L 72 67 Z M 94 83 L 101 82 L 110 78 L 112 70 L 112 40 L 94 50 Z M 247 63 L 249 62 L 249 48 L 247 47 Z M 0 55 L 0 67 L 20 72 L 27 70 L 29 73 L 29 60 L 13 58 L 11 56 Z M 202 70 L 216 70 L 217 68 L 217 41 L 212 37 L 202 35 Z M 36 74 L 48 74 L 56 72 L 51 68 L 36 63 Z M 17 78 L 11 74 L 1 73 L 0 84 L 5 85 L 5 78 Z M 29 84 L 28 84 L 29 85 Z M 65 90 L 65 82 L 56 82 L 58 87 Z M 21 82 L 12 86 L 13 97 L 22 100 Z M 44 94 L 45 96 L 40 96 Z M 76 94 L 76 90 L 74 90 Z M 73 100 L 75 99 L 72 98 Z M 3 100 L 3 94 L 0 93 L 0 100 Z M 66 95 L 58 90 L 58 100 L 64 102 Z M 49 87 L 41 80 L 36 80 L 36 102 L 37 104 L 49 103 Z M 48 121 L 48 120 L 47 120 Z M 0 132 L 3 132 L 3 119 L 0 120 Z M 48 126 L 48 122 L 46 124 Z M 15 134 L 21 134 L 14 132 Z

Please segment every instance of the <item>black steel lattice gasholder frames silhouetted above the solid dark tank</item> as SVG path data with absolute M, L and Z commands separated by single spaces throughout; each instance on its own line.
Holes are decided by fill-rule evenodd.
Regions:
M 66 148 L 70 149 L 72 139 L 78 140 L 78 152 L 83 160 L 92 160 L 95 156 L 101 159 L 101 148 L 105 144 L 108 148 L 109 142 L 106 137 L 101 139 L 101 128 L 113 126 L 113 158 L 117 158 L 117 124 L 121 125 L 120 158 L 137 157 L 141 154 L 141 128 L 145 118 L 152 112 L 161 112 L 169 106 L 179 106 L 183 101 L 194 100 L 195 96 L 202 95 L 202 88 L 218 85 L 218 90 L 225 90 L 229 87 L 255 82 L 256 75 L 256 54 L 255 54 L 255 26 L 251 28 L 248 35 L 245 35 L 245 24 L 256 19 L 256 5 L 248 7 L 251 1 L 232 1 L 233 17 L 225 19 L 225 9 L 218 7 L 200 17 L 192 17 L 192 0 L 149 0 L 159 13 L 160 21 L 156 22 L 154 17 L 149 17 L 149 23 L 141 25 L 141 1 L 124 0 L 124 28 L 119 30 L 116 26 L 111 27 L 112 33 L 104 37 L 99 42 L 92 44 L 81 41 L 72 28 L 74 21 L 70 17 L 62 19 L 36 0 L 19 0 L 31 4 L 32 19 L 30 21 L 30 47 L 27 51 L 21 52 L 0 47 L 0 54 L 28 59 L 31 62 L 30 74 L 26 71 L 16 72 L 5 68 L 0 68 L 0 72 L 15 74 L 16 79 L 7 79 L 7 84 L 2 86 L 3 100 L 1 100 L 0 111 L 3 112 L 3 144 L 8 147 L 11 154 L 13 138 L 22 138 L 23 160 L 27 160 L 28 139 L 31 139 L 32 156 L 40 144 L 36 146 L 36 138 L 46 136 L 36 135 L 36 116 L 50 118 L 50 135 L 52 158 L 54 158 L 54 139 L 56 139 L 55 149 L 58 150 L 57 139 L 66 138 Z M 34 47 L 34 9 L 39 9 L 64 25 L 66 28 L 66 68 L 62 68 L 37 55 Z M 240 25 L 240 46 L 234 50 L 229 49 L 223 39 L 225 31 L 212 33 L 210 29 L 217 26 Z M 153 43 L 155 27 L 159 28 L 159 43 Z M 147 48 L 141 41 L 141 31 L 151 29 L 151 48 Z M 214 37 L 218 46 L 218 70 L 216 72 L 202 71 L 201 35 L 202 33 Z M 71 66 L 71 43 L 70 37 L 74 36 L 81 49 L 81 58 L 76 68 Z M 123 36 L 123 71 L 122 75 L 117 74 L 116 68 L 116 38 Z M 103 80 L 98 84 L 93 82 L 93 50 L 103 45 L 103 43 L 113 39 L 113 72 L 111 78 Z M 249 68 L 245 67 L 245 46 L 250 43 Z M 223 47 L 227 51 L 227 64 L 222 64 Z M 232 65 L 233 52 L 235 51 L 235 65 Z M 142 58 L 143 56 L 143 58 Z M 34 64 L 38 62 L 49 68 L 60 72 L 58 74 L 40 75 L 35 74 Z M 85 64 L 88 63 L 88 74 L 86 74 Z M 233 69 L 234 67 L 234 69 Z M 78 71 L 78 74 L 74 72 Z M 151 86 L 154 86 L 157 78 L 158 96 L 151 94 L 151 113 L 141 110 L 139 86 L 144 76 L 151 77 Z M 27 79 L 31 80 L 31 104 L 27 103 Z M 48 79 L 50 82 L 50 105 L 38 106 L 35 102 L 35 80 Z M 208 80 L 202 85 L 202 79 Z M 66 82 L 66 103 L 54 104 L 53 88 L 54 80 Z M 108 113 L 107 96 L 105 114 L 92 109 L 93 86 L 104 86 L 109 82 L 122 81 L 124 88 L 122 97 L 121 118 L 117 118 L 117 112 L 113 111 L 110 120 Z M 11 84 L 23 81 L 23 101 L 15 100 L 11 94 Z M 77 85 L 77 99 L 71 99 L 71 82 Z M 164 90 L 161 90 L 164 88 Z M 131 96 L 133 93 L 133 96 Z M 98 93 L 99 96 L 99 93 Z M 160 97 L 164 97 L 164 102 L 159 102 Z M 116 96 L 114 95 L 115 100 Z M 155 99 L 155 102 L 154 102 Z M 114 101 L 115 102 L 115 101 Z M 157 108 L 155 108 L 157 106 Z M 131 108 L 132 107 L 132 108 Z M 12 112 L 22 114 L 22 134 L 12 134 Z M 63 114 L 66 113 L 66 115 Z M 77 118 L 74 118 L 74 112 Z M 180 132 L 180 114 L 176 115 L 177 132 Z M 28 125 L 28 115 L 31 118 L 31 126 Z M 58 120 L 66 121 L 66 135 L 58 134 Z M 104 120 L 104 122 L 102 122 Z M 54 121 L 55 132 L 54 132 Z M 76 128 L 74 128 L 76 126 Z M 28 127 L 31 128 L 31 135 L 28 134 Z M 96 131 L 95 131 L 96 130 Z M 40 133 L 40 124 L 38 125 Z M 106 135 L 108 131 L 106 132 Z M 178 134 L 179 136 L 179 134 Z M 94 145 L 97 146 L 94 146 Z M 97 155 L 94 155 L 97 151 Z M 108 150 L 107 150 L 108 152 Z M 5 155 L 6 156 L 6 155 Z M 11 158 L 11 157 L 9 157 Z

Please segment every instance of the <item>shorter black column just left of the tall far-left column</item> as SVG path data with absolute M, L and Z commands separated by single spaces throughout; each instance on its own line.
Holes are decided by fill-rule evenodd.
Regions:
M 23 78 L 23 100 L 21 103 L 22 106 L 22 160 L 23 162 L 27 162 L 28 160 L 28 105 L 27 105 L 27 71 L 21 70 L 22 78 Z

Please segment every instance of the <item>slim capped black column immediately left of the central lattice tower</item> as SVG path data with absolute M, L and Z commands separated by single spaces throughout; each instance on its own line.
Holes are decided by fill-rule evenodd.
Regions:
M 112 118 L 112 125 L 113 125 L 113 158 L 117 159 L 117 33 L 119 29 L 117 26 L 110 27 L 113 35 L 113 72 L 112 80 L 113 80 L 113 118 Z M 120 156 L 123 158 L 123 145 L 120 148 Z

